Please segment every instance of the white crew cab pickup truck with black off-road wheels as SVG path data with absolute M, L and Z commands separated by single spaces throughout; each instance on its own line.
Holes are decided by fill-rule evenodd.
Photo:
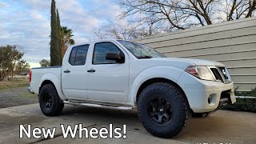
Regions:
M 70 46 L 62 66 L 33 68 L 31 93 L 46 116 L 64 104 L 138 110 L 150 134 L 170 138 L 192 114 L 210 114 L 234 103 L 234 85 L 219 62 L 166 58 L 148 46 L 100 40 Z

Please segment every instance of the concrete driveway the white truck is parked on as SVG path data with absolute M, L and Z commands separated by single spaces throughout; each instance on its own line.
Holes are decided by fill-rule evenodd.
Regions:
M 83 127 L 107 127 L 126 124 L 127 138 L 63 138 L 60 124 L 82 123 Z M 57 127 L 54 138 L 18 138 L 19 124 L 32 127 Z M 136 111 L 93 109 L 65 106 L 62 115 L 45 117 L 38 104 L 0 109 L 0 143 L 256 143 L 256 114 L 219 110 L 207 118 L 192 118 L 190 126 L 172 138 L 156 138 L 142 127 Z

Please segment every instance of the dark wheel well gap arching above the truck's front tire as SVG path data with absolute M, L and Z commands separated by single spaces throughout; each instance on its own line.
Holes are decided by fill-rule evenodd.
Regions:
M 138 88 L 138 91 L 137 91 L 137 94 L 136 94 L 136 103 L 138 102 L 138 96 L 139 96 L 139 94 L 141 94 L 142 90 L 144 90 L 146 88 L 146 86 L 149 86 L 149 85 L 151 85 L 153 83 L 156 83 L 156 82 L 166 82 L 166 83 L 170 83 L 170 84 L 174 84 L 175 86 L 178 86 L 177 83 L 171 81 L 170 79 L 166 79 L 166 78 L 151 78 L 151 79 L 147 80 L 146 82 L 143 82 L 142 85 Z M 182 88 L 180 86 L 178 86 L 178 88 L 180 90 L 182 90 Z M 186 95 L 183 90 L 182 90 L 182 93 L 184 95 Z M 186 101 L 187 101 L 187 98 L 186 98 Z

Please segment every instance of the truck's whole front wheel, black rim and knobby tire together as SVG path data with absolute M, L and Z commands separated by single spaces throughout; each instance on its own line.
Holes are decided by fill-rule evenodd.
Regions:
M 172 84 L 151 84 L 138 97 L 138 118 L 154 136 L 177 135 L 188 125 L 191 115 L 185 94 Z

